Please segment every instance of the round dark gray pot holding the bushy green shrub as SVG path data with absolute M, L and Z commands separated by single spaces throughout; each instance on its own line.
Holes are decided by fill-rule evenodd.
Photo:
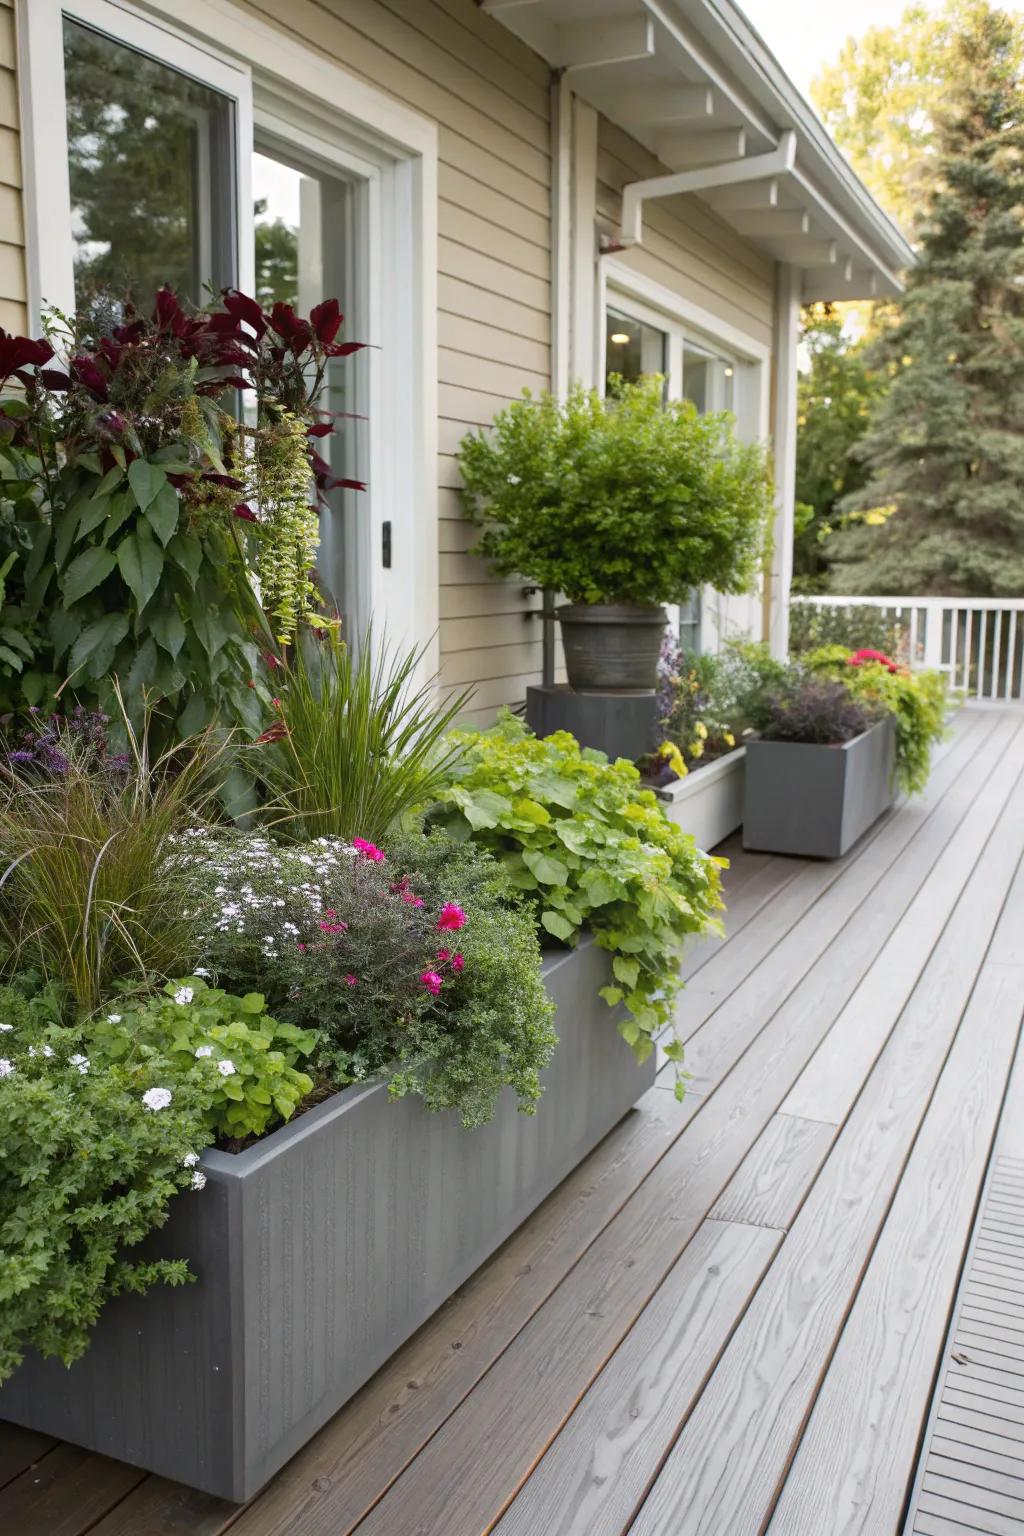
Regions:
M 665 608 L 570 602 L 556 613 L 570 688 L 657 688 Z

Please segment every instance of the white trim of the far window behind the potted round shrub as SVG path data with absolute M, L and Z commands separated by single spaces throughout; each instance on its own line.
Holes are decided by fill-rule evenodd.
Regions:
M 772 349 L 766 343 L 751 336 L 742 327 L 720 319 L 718 315 L 694 304 L 665 284 L 633 270 L 625 263 L 605 257 L 599 263 L 596 324 L 597 378 L 602 381 L 602 387 L 605 378 L 605 316 L 609 307 L 620 309 L 625 315 L 668 332 L 669 378 L 674 384 L 682 382 L 682 353 L 686 336 L 692 338 L 697 347 L 708 347 L 718 355 L 725 353 L 735 359 L 742 369 L 742 376 L 734 381 L 738 406 L 737 432 L 749 439 L 768 441 Z M 679 393 L 677 389 L 672 392 Z M 757 624 L 743 624 L 743 604 L 755 605 L 746 617 L 757 616 Z M 734 598 L 705 587 L 700 602 L 700 648 L 715 651 L 720 642 L 737 628 L 748 628 L 754 637 L 760 637 L 761 604 L 761 591 L 755 596 Z M 674 624 L 679 630 L 679 610 L 676 610 Z

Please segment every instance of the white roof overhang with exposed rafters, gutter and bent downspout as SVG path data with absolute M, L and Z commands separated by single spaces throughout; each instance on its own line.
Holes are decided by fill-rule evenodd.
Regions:
M 637 238 L 645 200 L 692 192 L 798 267 L 804 303 L 901 292 L 910 244 L 731 0 L 482 8 L 672 172 L 626 189 L 623 243 Z

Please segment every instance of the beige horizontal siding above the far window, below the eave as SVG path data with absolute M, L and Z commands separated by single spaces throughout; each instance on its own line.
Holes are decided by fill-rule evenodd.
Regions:
M 597 131 L 597 212 L 619 227 L 626 181 L 659 175 L 662 166 L 606 118 Z M 775 264 L 695 197 L 643 206 L 643 244 L 619 257 L 645 276 L 729 324 L 771 344 Z

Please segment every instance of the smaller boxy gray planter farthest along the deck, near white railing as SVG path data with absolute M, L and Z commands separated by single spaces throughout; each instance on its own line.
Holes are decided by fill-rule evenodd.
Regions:
M 748 742 L 743 846 L 838 859 L 892 805 L 895 743 L 890 719 L 843 746 Z

